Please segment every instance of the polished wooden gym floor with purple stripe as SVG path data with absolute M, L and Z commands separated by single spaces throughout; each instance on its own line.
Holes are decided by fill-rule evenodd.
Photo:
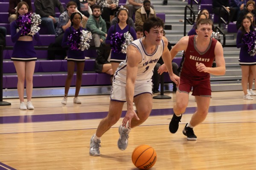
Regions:
M 34 98 L 35 110 L 19 110 L 19 99 L 0 106 L 0 170 L 136 170 L 131 153 L 140 144 L 157 152 L 151 170 L 254 170 L 256 165 L 256 96 L 242 91 L 213 92 L 207 119 L 194 128 L 197 141 L 187 141 L 184 125 L 195 112 L 189 106 L 177 133 L 169 132 L 172 99 L 153 99 L 151 116 L 131 130 L 128 148 L 117 148 L 122 118 L 102 136 L 101 156 L 89 156 L 90 137 L 107 115 L 109 95 Z M 126 105 L 124 109 L 126 109 Z M 123 115 L 125 112 L 123 112 Z

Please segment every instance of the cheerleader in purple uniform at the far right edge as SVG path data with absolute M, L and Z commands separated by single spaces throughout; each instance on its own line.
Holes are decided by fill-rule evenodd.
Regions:
M 245 34 L 251 34 L 252 32 L 256 32 L 253 28 L 252 21 L 250 17 L 244 16 L 242 19 L 241 27 L 238 30 L 236 37 L 236 46 L 237 48 L 241 48 L 239 55 L 239 65 L 241 65 L 242 70 L 242 88 L 244 91 L 244 99 L 252 100 L 253 98 L 247 93 L 247 84 L 248 84 L 248 76 L 249 70 L 253 71 L 253 75 L 256 75 L 256 55 L 250 56 L 247 51 L 247 45 L 242 40 Z M 253 40 L 256 41 L 256 40 Z M 256 86 L 256 84 L 255 84 Z

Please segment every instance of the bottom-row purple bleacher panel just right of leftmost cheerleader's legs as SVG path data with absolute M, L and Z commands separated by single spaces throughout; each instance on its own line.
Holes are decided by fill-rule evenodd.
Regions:
M 34 88 L 52 87 L 52 75 L 51 74 L 34 74 L 33 87 Z

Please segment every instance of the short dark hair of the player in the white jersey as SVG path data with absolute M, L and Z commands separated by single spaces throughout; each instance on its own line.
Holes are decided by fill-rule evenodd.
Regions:
M 149 17 L 148 19 L 145 20 L 143 24 L 143 34 L 145 37 L 145 31 L 149 32 L 151 28 L 158 28 L 158 27 L 163 27 L 164 28 L 164 23 L 163 20 L 159 17 Z

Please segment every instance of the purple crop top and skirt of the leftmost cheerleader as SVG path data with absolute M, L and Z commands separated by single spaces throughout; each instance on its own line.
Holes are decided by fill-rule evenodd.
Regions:
M 11 39 L 14 42 L 12 51 L 12 61 L 35 61 L 37 60 L 33 41 L 18 40 L 21 35 L 21 30 L 18 28 L 17 20 L 11 23 Z M 32 37 L 32 35 L 29 35 Z M 34 35 L 35 40 L 39 40 L 39 34 Z

